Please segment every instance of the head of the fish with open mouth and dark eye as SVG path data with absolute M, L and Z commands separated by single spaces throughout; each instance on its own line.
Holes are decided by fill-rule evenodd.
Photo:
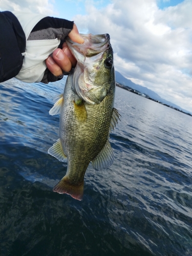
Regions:
M 73 87 L 80 98 L 89 104 L 99 104 L 111 87 L 113 72 L 113 49 L 109 34 L 81 34 L 83 44 L 66 42 L 77 60 L 74 69 Z

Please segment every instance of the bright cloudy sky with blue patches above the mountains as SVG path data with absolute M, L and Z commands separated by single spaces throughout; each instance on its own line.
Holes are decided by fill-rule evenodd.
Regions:
M 4 10 L 74 20 L 80 33 L 109 33 L 116 71 L 192 112 L 191 0 L 0 0 Z

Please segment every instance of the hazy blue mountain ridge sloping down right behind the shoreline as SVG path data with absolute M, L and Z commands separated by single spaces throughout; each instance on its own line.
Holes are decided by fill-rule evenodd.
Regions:
M 115 71 L 115 76 L 116 76 L 116 82 L 123 84 L 123 86 L 130 87 L 130 88 L 132 88 L 136 91 L 139 91 L 143 94 L 148 95 L 150 98 L 152 98 L 154 100 L 162 102 L 163 104 L 166 104 L 168 106 L 172 106 L 173 108 L 179 109 L 179 110 L 181 110 L 185 113 L 189 113 L 189 111 L 180 108 L 180 106 L 178 106 L 178 105 L 176 105 L 176 104 L 174 104 L 174 103 L 172 103 L 172 102 L 170 102 L 166 99 L 162 99 L 157 93 L 153 92 L 152 90 L 150 90 L 146 87 L 140 86 L 139 84 L 136 84 L 136 83 L 132 82 L 130 79 L 126 79 L 118 71 Z

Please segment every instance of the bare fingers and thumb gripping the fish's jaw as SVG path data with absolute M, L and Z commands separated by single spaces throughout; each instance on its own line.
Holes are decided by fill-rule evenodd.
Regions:
M 79 35 L 77 26 L 74 24 L 72 31 L 68 35 L 70 39 L 78 44 L 83 44 L 84 39 Z M 56 49 L 52 56 L 46 59 L 46 65 L 54 76 L 60 76 L 64 72 L 69 72 L 76 65 L 76 59 L 69 50 L 66 42 L 63 43 L 62 49 Z

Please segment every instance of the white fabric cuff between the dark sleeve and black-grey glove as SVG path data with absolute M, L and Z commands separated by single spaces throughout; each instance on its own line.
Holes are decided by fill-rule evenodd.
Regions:
M 24 12 L 13 12 L 22 26 L 26 40 L 34 26 L 46 15 Z M 44 76 L 47 68 L 45 60 L 60 44 L 59 39 L 49 40 L 27 40 L 26 51 L 23 53 L 24 62 L 22 69 L 16 76 L 17 79 L 25 82 L 39 82 Z

